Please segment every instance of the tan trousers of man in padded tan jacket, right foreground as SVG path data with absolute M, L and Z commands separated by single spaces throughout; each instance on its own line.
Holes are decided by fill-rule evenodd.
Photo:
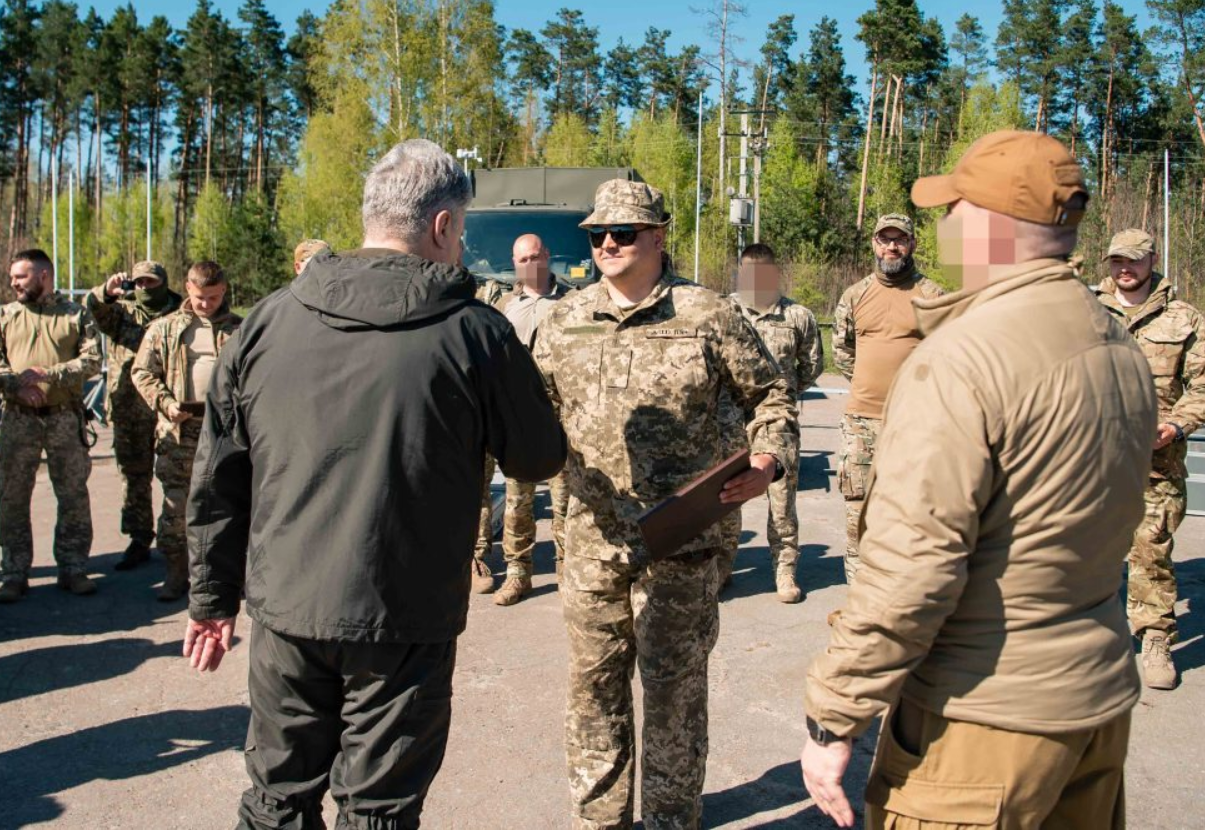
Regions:
M 1095 729 L 1031 735 L 904 701 L 878 737 L 866 828 L 1123 830 L 1129 729 L 1127 712 Z

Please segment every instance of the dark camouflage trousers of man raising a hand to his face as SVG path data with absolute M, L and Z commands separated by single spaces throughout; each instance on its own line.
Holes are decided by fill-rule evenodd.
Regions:
M 151 482 L 154 475 L 154 411 L 141 396 L 112 401 L 113 457 L 122 473 L 122 532 L 149 546 L 154 540 Z

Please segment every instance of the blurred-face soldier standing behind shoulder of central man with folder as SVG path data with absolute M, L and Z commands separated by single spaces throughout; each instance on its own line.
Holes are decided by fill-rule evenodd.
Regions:
M 824 370 L 824 346 L 812 312 L 782 295 L 782 272 L 770 246 L 756 242 L 741 252 L 737 290 L 733 298 L 778 364 L 792 399 L 798 400 Z M 783 465 L 787 475 L 771 484 L 766 494 L 770 499 L 766 540 L 775 566 L 778 599 L 799 602 L 804 595 L 795 582 L 795 563 L 799 560 L 799 517 L 795 512 L 798 446 Z M 721 560 L 722 579 L 731 572 L 728 549 L 724 554 Z

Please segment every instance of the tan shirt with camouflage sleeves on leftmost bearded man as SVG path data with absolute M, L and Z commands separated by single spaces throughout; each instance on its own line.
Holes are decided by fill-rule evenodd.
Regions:
M 63 294 L 48 302 L 10 302 L 0 310 L 0 394 L 16 401 L 20 373 L 41 366 L 47 406 L 78 406 L 83 384 L 100 371 L 96 323 Z

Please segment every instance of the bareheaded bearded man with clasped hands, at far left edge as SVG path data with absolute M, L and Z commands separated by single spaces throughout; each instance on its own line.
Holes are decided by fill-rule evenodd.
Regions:
M 42 451 L 59 502 L 58 585 L 82 596 L 96 590 L 87 575 L 92 458 L 83 408 L 84 381 L 100 370 L 96 324 L 87 308 L 54 290 L 54 264 L 46 252 L 17 253 L 8 277 L 17 301 L 0 310 L 0 602 L 16 602 L 29 590 L 29 507 Z

